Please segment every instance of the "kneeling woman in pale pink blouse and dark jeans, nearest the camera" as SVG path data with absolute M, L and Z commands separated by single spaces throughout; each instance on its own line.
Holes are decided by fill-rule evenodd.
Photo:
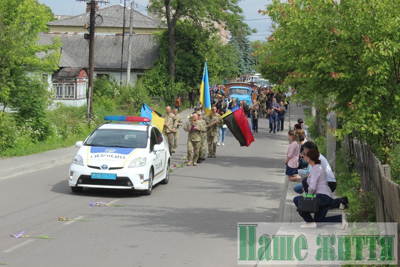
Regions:
M 329 207 L 332 205 L 333 194 L 327 184 L 326 172 L 321 166 L 318 150 L 310 149 L 305 154 L 305 158 L 312 166 L 312 169 L 307 178 L 307 191 L 304 192 L 308 194 L 316 194 L 316 197 L 319 200 L 319 210 L 318 212 L 314 213 L 314 217 L 312 217 L 308 212 L 299 212 L 298 214 L 306 222 L 300 227 L 316 228 L 315 222 L 342 222 L 342 228 L 344 229 L 347 226 L 347 214 L 343 213 L 340 215 L 326 217 L 326 213 L 328 212 Z M 293 198 L 293 203 L 296 207 L 298 206 L 300 197 L 302 197 L 302 195 L 295 196 Z

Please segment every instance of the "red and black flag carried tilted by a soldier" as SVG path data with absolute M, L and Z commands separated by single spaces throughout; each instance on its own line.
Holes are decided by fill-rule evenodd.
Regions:
M 249 146 L 254 142 L 253 133 L 242 108 L 230 110 L 223 114 L 221 118 L 234 138 L 239 141 L 240 146 Z

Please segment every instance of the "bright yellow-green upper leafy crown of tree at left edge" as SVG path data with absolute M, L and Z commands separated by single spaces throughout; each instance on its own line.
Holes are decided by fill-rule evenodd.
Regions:
M 58 68 L 60 42 L 39 45 L 53 14 L 37 0 L 0 2 L 0 105 L 14 97 L 11 90 L 27 72 L 52 72 Z M 1 119 L 1 118 L 0 118 Z

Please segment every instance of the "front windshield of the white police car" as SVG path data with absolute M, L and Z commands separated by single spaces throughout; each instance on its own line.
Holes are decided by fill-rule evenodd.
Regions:
M 128 129 L 97 129 L 83 145 L 145 148 L 147 146 L 147 132 Z

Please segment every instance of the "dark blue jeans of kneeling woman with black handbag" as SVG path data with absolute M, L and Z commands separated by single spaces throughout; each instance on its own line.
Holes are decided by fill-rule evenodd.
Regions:
M 298 206 L 298 200 L 302 196 L 295 196 L 293 198 L 293 203 Z M 332 205 L 333 199 L 324 194 L 316 194 L 316 197 L 319 200 L 319 210 L 314 213 L 314 217 L 311 216 L 308 212 L 298 212 L 300 216 L 303 218 L 305 222 L 341 222 L 341 214 L 333 215 L 326 217 L 326 213 L 328 212 L 330 206 Z

